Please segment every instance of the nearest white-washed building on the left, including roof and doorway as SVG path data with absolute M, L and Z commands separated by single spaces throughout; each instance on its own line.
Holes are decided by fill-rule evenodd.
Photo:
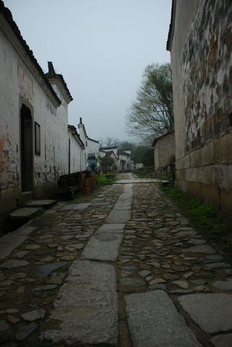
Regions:
M 51 197 L 68 173 L 68 104 L 63 76 L 44 74 L 0 1 L 1 219 L 25 201 Z

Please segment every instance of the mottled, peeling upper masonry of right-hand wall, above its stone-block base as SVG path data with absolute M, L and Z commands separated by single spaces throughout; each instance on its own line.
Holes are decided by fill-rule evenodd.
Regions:
M 185 40 L 185 153 L 231 133 L 232 3 L 199 1 Z

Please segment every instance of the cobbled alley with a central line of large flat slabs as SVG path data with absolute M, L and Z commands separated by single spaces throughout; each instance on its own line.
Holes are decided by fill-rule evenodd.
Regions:
M 1 346 L 232 346 L 232 269 L 153 180 L 1 238 Z

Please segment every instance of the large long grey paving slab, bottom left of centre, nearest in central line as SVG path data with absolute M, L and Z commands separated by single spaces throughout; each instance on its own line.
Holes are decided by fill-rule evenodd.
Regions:
M 75 260 L 53 304 L 57 329 L 41 332 L 52 344 L 116 346 L 118 332 L 115 268 L 101 262 Z

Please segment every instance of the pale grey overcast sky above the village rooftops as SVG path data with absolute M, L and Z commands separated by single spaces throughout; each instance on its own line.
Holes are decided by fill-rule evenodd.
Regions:
M 144 68 L 170 61 L 166 51 L 172 0 L 3 0 L 35 58 L 52 61 L 92 139 L 135 139 L 125 131 Z

